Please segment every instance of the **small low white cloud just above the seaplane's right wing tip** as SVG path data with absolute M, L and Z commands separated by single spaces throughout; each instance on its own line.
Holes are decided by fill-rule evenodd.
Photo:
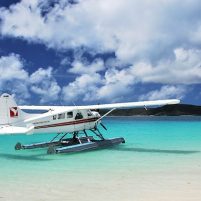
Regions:
M 153 90 L 146 95 L 141 95 L 139 100 L 163 100 L 169 98 L 182 99 L 186 94 L 187 88 L 183 86 L 162 86 L 159 90 Z

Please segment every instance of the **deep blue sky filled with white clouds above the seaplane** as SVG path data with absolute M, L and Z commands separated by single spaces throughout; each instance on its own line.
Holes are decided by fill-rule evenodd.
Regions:
M 0 0 L 0 93 L 18 104 L 201 105 L 200 0 Z

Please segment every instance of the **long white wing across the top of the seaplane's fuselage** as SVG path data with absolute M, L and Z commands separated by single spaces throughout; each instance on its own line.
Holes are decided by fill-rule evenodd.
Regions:
M 41 114 L 37 117 L 31 117 L 26 119 L 25 123 L 32 123 L 35 120 L 40 120 L 45 117 L 57 115 L 59 113 L 69 112 L 70 110 L 95 110 L 95 109 L 118 109 L 118 108 L 135 108 L 135 107 L 147 107 L 147 106 L 159 106 L 159 105 L 172 105 L 178 104 L 180 100 L 169 99 L 169 100 L 156 100 L 156 101 L 140 101 L 140 102 L 127 102 L 127 103 L 112 103 L 112 104 L 101 104 L 101 105 L 87 105 L 87 106 L 19 106 L 21 109 L 33 109 L 40 110 L 44 109 L 49 111 Z

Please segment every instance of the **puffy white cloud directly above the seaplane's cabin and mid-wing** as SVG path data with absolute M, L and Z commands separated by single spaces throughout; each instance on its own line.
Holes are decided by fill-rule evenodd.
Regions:
M 132 91 L 134 76 L 128 69 L 109 69 L 104 76 L 83 74 L 63 88 L 65 100 L 119 101 Z

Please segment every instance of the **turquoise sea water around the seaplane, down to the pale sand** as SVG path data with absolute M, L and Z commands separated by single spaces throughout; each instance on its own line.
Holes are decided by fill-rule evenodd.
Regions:
M 201 117 L 106 118 L 105 137 L 125 138 L 119 146 L 75 154 L 47 155 L 46 149 L 15 151 L 16 142 L 48 141 L 54 135 L 0 136 L 0 180 L 25 182 L 61 175 L 156 172 L 201 164 Z

